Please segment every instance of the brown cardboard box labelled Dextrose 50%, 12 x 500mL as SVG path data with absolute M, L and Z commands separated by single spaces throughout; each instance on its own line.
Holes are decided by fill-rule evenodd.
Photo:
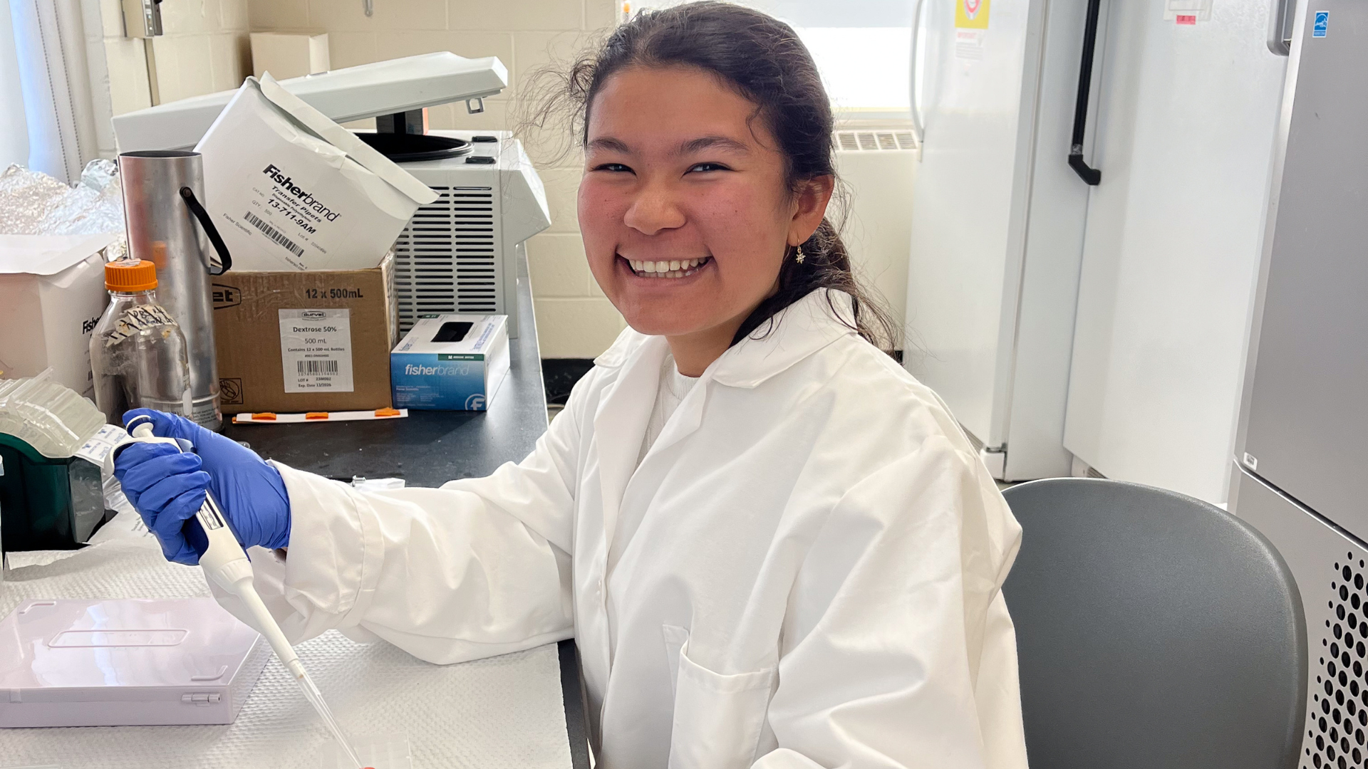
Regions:
M 213 279 L 224 413 L 390 405 L 394 257 L 369 270 L 228 271 Z

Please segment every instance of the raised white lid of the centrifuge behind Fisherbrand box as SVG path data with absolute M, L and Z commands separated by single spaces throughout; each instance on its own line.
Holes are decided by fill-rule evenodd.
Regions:
M 508 67 L 494 56 L 465 59 L 443 51 L 290 78 L 280 86 L 345 123 L 495 96 L 508 88 Z M 119 151 L 194 146 L 234 93 L 237 89 L 220 90 L 115 116 Z

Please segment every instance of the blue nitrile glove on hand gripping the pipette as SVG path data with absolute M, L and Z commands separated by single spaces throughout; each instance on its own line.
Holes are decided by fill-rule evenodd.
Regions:
M 114 476 L 124 497 L 157 536 L 168 561 L 198 564 L 200 553 L 208 547 L 198 525 L 182 531 L 204 505 L 205 488 L 219 502 L 242 547 L 274 549 L 290 543 L 290 497 L 279 471 L 252 449 L 182 416 L 133 409 L 123 415 L 123 423 L 141 415 L 152 417 L 153 435 L 183 438 L 196 450 L 182 454 L 166 443 L 138 443 L 114 461 Z

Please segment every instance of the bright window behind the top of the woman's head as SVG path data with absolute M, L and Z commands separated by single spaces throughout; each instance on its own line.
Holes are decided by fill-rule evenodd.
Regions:
M 843 119 L 908 119 L 912 0 L 741 0 L 803 38 Z

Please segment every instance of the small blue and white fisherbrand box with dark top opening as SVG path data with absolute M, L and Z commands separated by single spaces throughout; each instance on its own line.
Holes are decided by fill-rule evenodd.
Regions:
M 486 410 L 508 372 L 505 315 L 425 315 L 390 353 L 398 409 Z

